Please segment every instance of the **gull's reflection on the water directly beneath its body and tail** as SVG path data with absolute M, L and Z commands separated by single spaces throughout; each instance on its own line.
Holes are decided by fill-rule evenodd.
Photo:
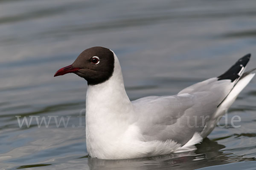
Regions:
M 204 138 L 201 144 L 196 145 L 196 151 L 172 153 L 164 156 L 148 158 L 106 160 L 88 158 L 90 170 L 194 170 L 202 167 L 228 164 L 239 161 L 240 156 L 229 157 L 232 153 L 220 151 L 225 148 L 209 138 Z M 225 161 L 223 161 L 225 160 Z M 252 161 L 253 158 L 243 158 Z

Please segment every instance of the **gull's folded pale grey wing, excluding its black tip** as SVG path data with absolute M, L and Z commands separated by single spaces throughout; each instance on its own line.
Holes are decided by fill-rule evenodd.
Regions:
M 185 144 L 200 133 L 218 104 L 232 89 L 230 80 L 210 78 L 183 89 L 177 95 L 149 96 L 133 101 L 137 126 L 146 141 L 171 138 Z

